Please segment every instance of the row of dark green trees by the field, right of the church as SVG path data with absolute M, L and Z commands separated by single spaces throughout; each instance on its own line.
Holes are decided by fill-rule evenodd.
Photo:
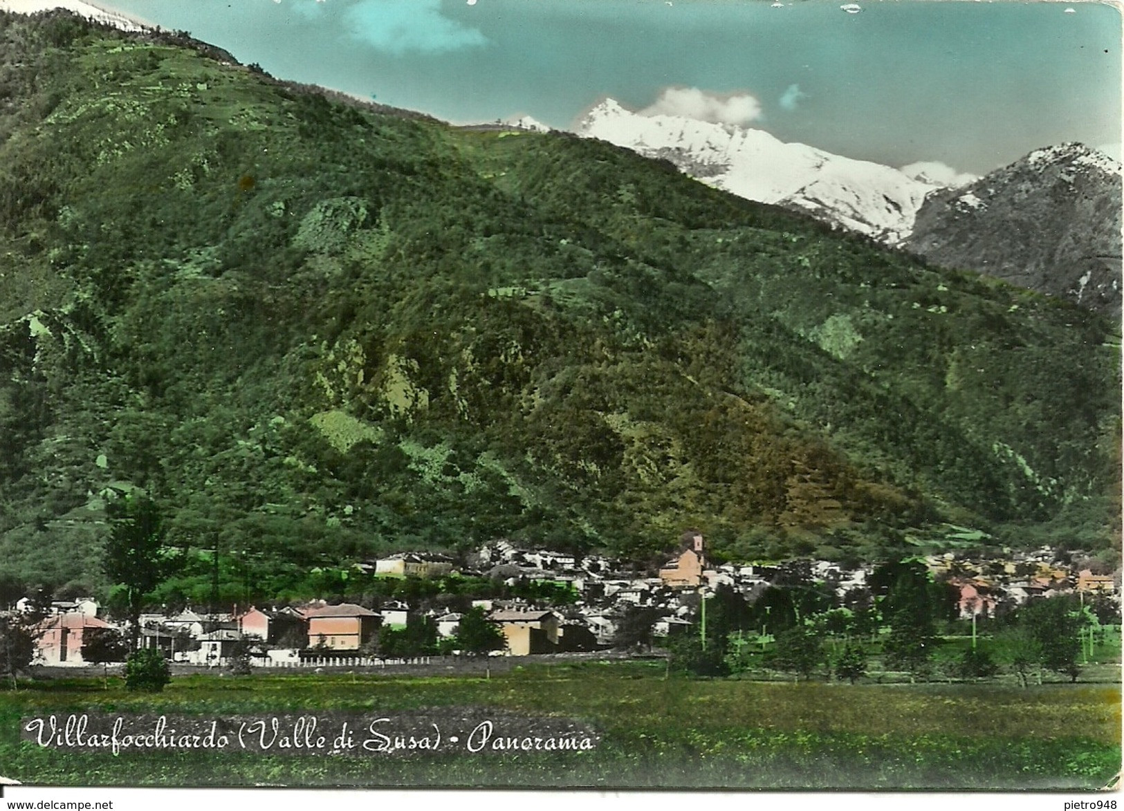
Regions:
M 665 640 L 670 667 L 703 676 L 774 672 L 855 683 L 876 674 L 977 681 L 1005 673 L 1027 686 L 1053 673 L 1077 681 L 1082 662 L 1118 623 L 1107 601 L 1063 594 L 1031 599 L 984 620 L 984 634 L 969 634 L 959 591 L 916 559 L 881 564 L 867 589 L 842 601 L 823 583 L 782 573 L 752 603 L 728 586 L 703 603 L 696 622 Z M 631 608 L 617 644 L 651 648 L 656 619 L 652 608 Z

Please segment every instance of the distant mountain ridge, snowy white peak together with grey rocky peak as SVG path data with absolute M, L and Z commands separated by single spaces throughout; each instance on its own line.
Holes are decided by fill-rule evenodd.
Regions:
M 987 273 L 1120 315 L 1122 170 L 1091 147 L 1039 148 L 984 177 L 948 185 L 923 172 L 787 144 L 760 129 L 633 112 L 614 99 L 591 108 L 577 130 L 669 160 L 708 185 L 809 213 L 944 267 Z M 1081 189 L 1067 173 L 1084 177 Z M 1015 188 L 996 191 L 1006 185 Z M 1035 186 L 1043 202 L 1026 216 L 1019 207 Z M 1012 200 L 986 210 L 980 195 L 1004 194 Z M 1058 204 L 1045 202 L 1051 199 Z

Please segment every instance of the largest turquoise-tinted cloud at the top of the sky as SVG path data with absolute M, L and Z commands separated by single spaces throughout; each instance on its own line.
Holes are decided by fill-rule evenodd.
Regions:
M 353 37 L 396 56 L 488 43 L 475 28 L 442 16 L 441 0 L 361 0 L 347 9 L 345 19 Z

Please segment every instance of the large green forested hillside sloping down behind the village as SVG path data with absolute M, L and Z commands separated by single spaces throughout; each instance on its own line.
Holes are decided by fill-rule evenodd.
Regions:
M 0 574 L 99 587 L 102 491 L 283 580 L 508 537 L 1115 545 L 1120 346 L 670 164 L 0 15 Z

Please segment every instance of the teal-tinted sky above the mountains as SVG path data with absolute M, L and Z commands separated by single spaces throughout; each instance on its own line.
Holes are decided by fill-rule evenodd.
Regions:
M 752 97 L 740 121 L 782 140 L 895 166 L 982 173 L 1066 140 L 1120 157 L 1121 12 L 1102 3 L 860 0 L 859 13 L 819 0 L 99 4 L 190 30 L 279 78 L 456 122 L 531 115 L 570 128 L 607 95 L 640 109 L 683 86 Z

